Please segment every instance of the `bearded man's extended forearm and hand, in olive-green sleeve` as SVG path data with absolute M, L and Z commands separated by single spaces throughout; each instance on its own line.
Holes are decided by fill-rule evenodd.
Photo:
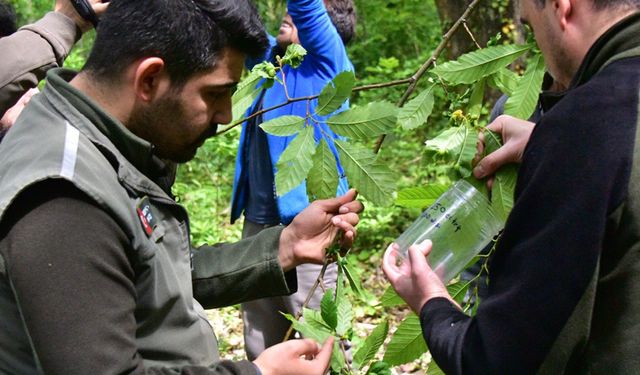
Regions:
M 351 190 L 338 198 L 315 201 L 286 228 L 269 228 L 233 244 L 195 251 L 195 298 L 211 308 L 295 292 L 296 275 L 292 270 L 296 266 L 322 263 L 324 250 L 339 231 L 345 233 L 342 246 L 351 246 L 359 221 L 357 213 L 363 209 L 355 198 L 356 192 Z

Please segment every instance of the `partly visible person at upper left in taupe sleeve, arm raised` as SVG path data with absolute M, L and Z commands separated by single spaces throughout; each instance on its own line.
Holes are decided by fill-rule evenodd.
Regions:
M 97 16 L 108 6 L 101 0 L 85 1 Z M 56 0 L 53 12 L 16 32 L 13 8 L 0 2 L 0 141 L 38 92 L 36 87 L 45 73 L 62 66 L 74 43 L 92 27 L 71 0 Z

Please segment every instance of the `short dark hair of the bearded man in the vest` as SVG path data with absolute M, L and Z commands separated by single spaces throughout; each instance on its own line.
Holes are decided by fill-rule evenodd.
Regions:
M 112 0 L 83 70 L 114 79 L 132 62 L 155 56 L 180 86 L 212 68 L 224 48 L 257 57 L 268 45 L 250 0 Z

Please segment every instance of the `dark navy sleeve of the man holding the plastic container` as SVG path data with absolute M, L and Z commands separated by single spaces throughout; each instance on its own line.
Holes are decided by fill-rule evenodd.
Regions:
M 637 74 L 619 75 L 630 76 Z M 536 125 L 476 316 L 441 299 L 423 307 L 425 340 L 447 374 L 533 374 L 578 318 L 600 256 L 611 250 L 609 218 L 624 204 L 636 139 L 637 112 L 627 109 L 637 108 L 637 82 L 617 97 L 593 93 L 621 84 L 603 74 Z

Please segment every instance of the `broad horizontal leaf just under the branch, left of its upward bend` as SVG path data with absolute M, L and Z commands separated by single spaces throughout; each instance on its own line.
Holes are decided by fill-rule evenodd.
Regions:
M 391 131 L 397 121 L 397 111 L 391 103 L 374 102 L 340 112 L 328 119 L 327 124 L 343 137 L 369 139 Z

